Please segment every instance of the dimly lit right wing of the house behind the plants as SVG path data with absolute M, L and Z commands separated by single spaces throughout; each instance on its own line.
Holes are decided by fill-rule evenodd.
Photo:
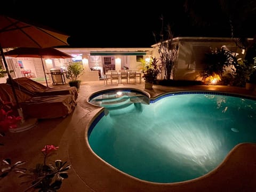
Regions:
M 233 39 L 220 37 L 176 37 L 173 42 L 179 45 L 178 60 L 175 65 L 175 80 L 201 80 L 205 53 L 212 49 L 226 46 L 230 51 L 237 53 L 238 58 L 244 58 L 242 49 L 239 49 Z M 158 45 L 152 45 L 153 55 L 159 57 Z M 227 72 L 230 71 L 226 68 Z

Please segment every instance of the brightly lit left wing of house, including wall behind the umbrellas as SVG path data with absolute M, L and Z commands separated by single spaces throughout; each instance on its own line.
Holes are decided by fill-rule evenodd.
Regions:
M 24 71 L 29 70 L 30 78 L 45 79 L 44 70 L 48 81 L 53 83 L 51 69 L 65 69 L 68 62 L 81 62 L 84 66 L 82 81 L 99 81 L 108 70 L 123 68 L 139 69 L 140 58 L 150 58 L 152 47 L 146 48 L 57 48 L 59 51 L 70 54 L 73 58 L 68 59 L 41 59 L 38 58 L 12 58 L 6 57 L 9 70 L 14 70 L 12 77 L 22 77 Z M 0 62 L 1 65 L 1 62 Z M 43 68 L 44 66 L 44 68 Z M 0 78 L 5 82 L 5 78 Z M 60 81 L 62 82 L 62 81 Z

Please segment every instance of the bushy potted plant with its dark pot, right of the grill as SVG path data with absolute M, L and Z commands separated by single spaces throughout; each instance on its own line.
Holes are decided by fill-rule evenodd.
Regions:
M 78 78 L 84 73 L 84 67 L 81 62 L 69 62 L 66 70 L 66 77 L 70 80 L 69 86 L 75 86 L 79 89 L 81 80 Z

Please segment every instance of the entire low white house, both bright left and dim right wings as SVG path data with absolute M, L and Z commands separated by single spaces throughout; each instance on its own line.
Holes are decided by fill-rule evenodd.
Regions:
M 174 43 L 179 45 L 178 60 L 175 64 L 174 79 L 196 80 L 201 78 L 204 69 L 204 55 L 213 49 L 226 46 L 230 51 L 243 58 L 243 50 L 239 49 L 231 38 L 219 37 L 176 37 Z M 81 76 L 82 81 L 99 81 L 108 70 L 123 68 L 139 69 L 141 58 L 159 57 L 158 45 L 141 48 L 57 48 L 73 56 L 68 59 L 43 59 L 45 73 L 51 81 L 50 69 L 65 68 L 70 61 L 79 61 L 84 65 L 85 73 Z M 10 70 L 14 70 L 13 77 L 24 76 L 22 71 L 30 70 L 30 77 L 44 78 L 41 59 L 38 58 L 8 58 Z M 1 65 L 1 63 L 0 63 Z M 164 78 L 164 76 L 162 76 Z M 5 81 L 1 80 L 0 81 Z

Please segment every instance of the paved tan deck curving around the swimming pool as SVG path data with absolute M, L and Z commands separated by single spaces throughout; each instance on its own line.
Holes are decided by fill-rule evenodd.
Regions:
M 63 86 L 63 85 L 62 85 Z M 43 161 L 41 149 L 45 145 L 59 146 L 56 155 L 49 160 L 61 159 L 71 164 L 69 178 L 63 181 L 59 191 L 256 191 L 256 145 L 242 143 L 236 146 L 225 160 L 201 178 L 180 183 L 153 183 L 135 179 L 124 174 L 93 153 L 87 141 L 87 129 L 93 117 L 103 108 L 87 102 L 95 91 L 113 88 L 133 88 L 146 91 L 151 98 L 167 92 L 179 91 L 221 91 L 256 98 L 256 92 L 233 86 L 153 86 L 145 90 L 144 84 L 103 85 L 102 81 L 82 83 L 77 106 L 66 118 L 44 119 L 37 126 L 19 133 L 7 133 L 1 138 L 1 158 L 12 162 L 26 161 L 26 167 L 33 167 Z M 17 173 L 10 173 L 0 179 L 0 191 L 24 191 L 27 185 L 20 185 L 23 179 Z

